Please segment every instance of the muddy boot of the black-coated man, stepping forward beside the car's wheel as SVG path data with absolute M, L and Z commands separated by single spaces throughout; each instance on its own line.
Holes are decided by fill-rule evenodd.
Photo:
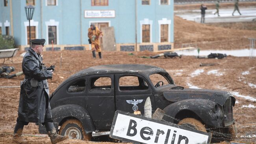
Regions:
M 53 122 L 45 122 L 45 128 L 46 128 L 48 136 L 51 139 L 52 144 L 56 144 L 57 142 L 61 142 L 65 139 L 69 138 L 67 135 L 65 135 L 65 136 L 58 135 L 56 132 L 56 129 L 53 125 Z

